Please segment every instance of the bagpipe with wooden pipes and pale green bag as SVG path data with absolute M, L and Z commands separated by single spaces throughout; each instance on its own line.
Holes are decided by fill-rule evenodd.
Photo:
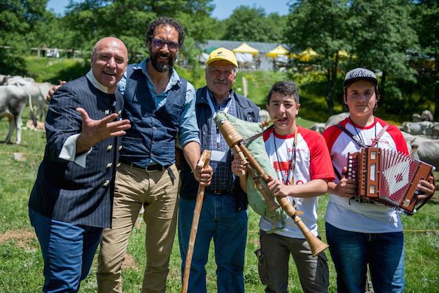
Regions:
M 305 236 L 305 239 L 307 240 L 311 248 L 311 253 L 313 256 L 318 255 L 323 250 L 328 248 L 327 244 L 325 244 L 320 239 L 318 239 L 316 235 L 313 235 L 313 233 L 309 230 L 309 228 L 299 217 L 299 215 L 302 214 L 302 212 L 296 211 L 293 204 L 289 201 L 287 197 L 284 196 L 274 197 L 272 195 L 267 185 L 270 182 L 270 180 L 272 180 L 268 172 L 265 171 L 265 169 L 267 168 L 264 169 L 264 167 L 261 166 L 261 163 L 259 163 L 260 156 L 254 155 L 254 153 L 252 154 L 249 148 L 247 148 L 247 146 L 250 145 L 250 143 L 259 140 L 261 141 L 261 146 L 259 147 L 259 150 L 261 150 L 261 153 L 263 152 L 263 154 L 265 154 L 265 148 L 263 146 L 263 141 L 260 137 L 260 134 L 263 128 L 265 126 L 268 126 L 270 122 L 267 123 L 261 122 L 261 124 L 256 124 L 252 122 L 242 121 L 231 115 L 220 112 L 217 113 L 217 115 L 215 116 L 215 123 L 217 124 L 219 131 L 222 133 L 224 139 L 226 140 L 229 148 L 233 150 L 235 155 L 239 156 L 242 165 L 246 166 L 248 175 L 253 183 L 253 186 L 251 186 L 251 184 L 247 185 L 248 201 L 252 209 L 254 209 L 260 215 L 264 215 L 267 213 L 275 215 L 276 213 L 277 214 L 279 213 L 279 207 L 281 207 L 283 211 L 285 211 L 285 213 L 292 218 L 294 223 L 298 226 L 302 234 Z M 237 128 L 239 128 L 241 132 L 246 132 L 246 134 L 248 135 L 251 131 L 253 131 L 252 134 L 254 133 L 256 134 L 254 135 L 250 134 L 249 135 L 250 139 L 244 139 L 243 135 L 237 130 Z M 257 133 L 258 130 L 259 133 Z M 254 149 L 255 148 L 253 148 L 252 150 Z M 268 159 L 266 154 L 265 157 Z M 261 210 L 261 207 L 257 207 L 257 204 L 254 203 L 254 200 L 252 200 L 249 194 L 250 192 L 249 187 L 256 187 L 258 193 L 261 194 L 261 196 L 263 197 L 263 205 L 264 205 L 263 209 L 266 209 L 266 211 Z

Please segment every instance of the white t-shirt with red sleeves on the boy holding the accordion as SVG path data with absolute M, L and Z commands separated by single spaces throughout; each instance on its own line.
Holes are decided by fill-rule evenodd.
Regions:
M 385 124 L 385 121 L 377 117 L 375 117 L 375 122 L 367 127 L 353 124 L 349 117 L 340 122 L 340 125 L 351 132 L 355 139 L 359 139 L 366 145 L 372 143 Z M 322 134 L 327 141 L 332 163 L 339 174 L 342 174 L 342 168 L 347 165 L 348 153 L 359 152 L 361 147 L 337 126 L 331 126 Z M 403 134 L 393 125 L 385 130 L 375 147 L 409 154 Z M 339 182 L 339 178 L 335 178 L 335 183 Z M 337 228 L 360 233 L 388 233 L 403 230 L 399 212 L 394 209 L 379 203 L 356 202 L 335 194 L 329 194 L 324 219 Z

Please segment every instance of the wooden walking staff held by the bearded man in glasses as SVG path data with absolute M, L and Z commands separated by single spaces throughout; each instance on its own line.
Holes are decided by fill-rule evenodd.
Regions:
M 204 150 L 201 154 L 200 161 L 198 161 L 197 167 L 205 168 L 209 166 L 211 161 L 211 151 Z M 201 208 L 204 199 L 204 186 L 198 185 L 197 201 L 195 202 L 195 209 L 193 210 L 191 234 L 189 236 L 189 244 L 187 245 L 185 272 L 183 274 L 183 284 L 181 288 L 182 293 L 187 293 L 189 285 L 189 272 L 191 272 L 191 262 L 193 255 L 193 246 L 195 245 L 195 238 L 197 237 L 198 222 L 200 221 Z

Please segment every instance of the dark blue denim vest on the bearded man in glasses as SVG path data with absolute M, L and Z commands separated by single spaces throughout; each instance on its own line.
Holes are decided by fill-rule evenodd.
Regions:
M 122 137 L 121 159 L 146 167 L 153 160 L 160 165 L 175 163 L 175 145 L 180 116 L 185 106 L 187 81 L 180 78 L 167 92 L 165 105 L 156 108 L 141 69 L 128 65 L 124 119 L 131 128 Z

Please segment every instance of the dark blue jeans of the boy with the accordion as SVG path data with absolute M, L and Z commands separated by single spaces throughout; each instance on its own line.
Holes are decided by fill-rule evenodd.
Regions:
M 403 232 L 358 233 L 326 223 L 326 233 L 338 292 L 364 292 L 368 264 L 376 293 L 404 291 Z

